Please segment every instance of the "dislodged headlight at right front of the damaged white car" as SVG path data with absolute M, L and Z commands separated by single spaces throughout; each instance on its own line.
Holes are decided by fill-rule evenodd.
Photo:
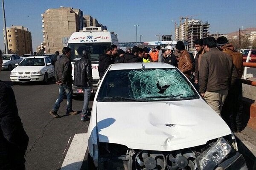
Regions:
M 219 138 L 218 141 L 210 147 L 209 151 L 199 161 L 201 170 L 210 162 L 214 161 L 216 164 L 221 163 L 223 159 L 230 153 L 232 147 L 224 138 Z

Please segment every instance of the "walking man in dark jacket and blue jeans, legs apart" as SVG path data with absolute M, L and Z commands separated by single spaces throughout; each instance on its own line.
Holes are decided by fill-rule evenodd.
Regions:
M 55 81 L 59 85 L 59 96 L 53 106 L 53 109 L 50 111 L 50 115 L 55 118 L 60 118 L 57 114 L 58 108 L 60 107 L 61 102 L 64 99 L 65 94 L 67 95 L 67 115 L 76 115 L 77 112 L 72 110 L 72 65 L 70 62 L 71 48 L 64 47 L 62 49 L 62 56 L 55 62 Z

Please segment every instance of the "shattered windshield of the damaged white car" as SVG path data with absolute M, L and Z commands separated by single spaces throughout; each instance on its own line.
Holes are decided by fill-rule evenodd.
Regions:
M 147 102 L 197 99 L 198 94 L 177 68 L 109 71 L 98 101 Z

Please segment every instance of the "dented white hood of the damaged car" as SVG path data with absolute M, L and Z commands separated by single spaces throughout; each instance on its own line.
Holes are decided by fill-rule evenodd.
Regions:
M 171 151 L 231 134 L 203 99 L 174 102 L 98 102 L 99 142 Z

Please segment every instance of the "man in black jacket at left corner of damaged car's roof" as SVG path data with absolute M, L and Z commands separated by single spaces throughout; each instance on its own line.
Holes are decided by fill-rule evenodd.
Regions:
M 106 51 L 105 54 L 99 55 L 99 66 L 98 66 L 99 79 L 102 79 L 102 76 L 106 71 L 106 69 L 108 68 L 108 66 L 113 64 L 113 61 L 111 60 L 112 48 L 108 47 L 106 48 L 105 51 Z

